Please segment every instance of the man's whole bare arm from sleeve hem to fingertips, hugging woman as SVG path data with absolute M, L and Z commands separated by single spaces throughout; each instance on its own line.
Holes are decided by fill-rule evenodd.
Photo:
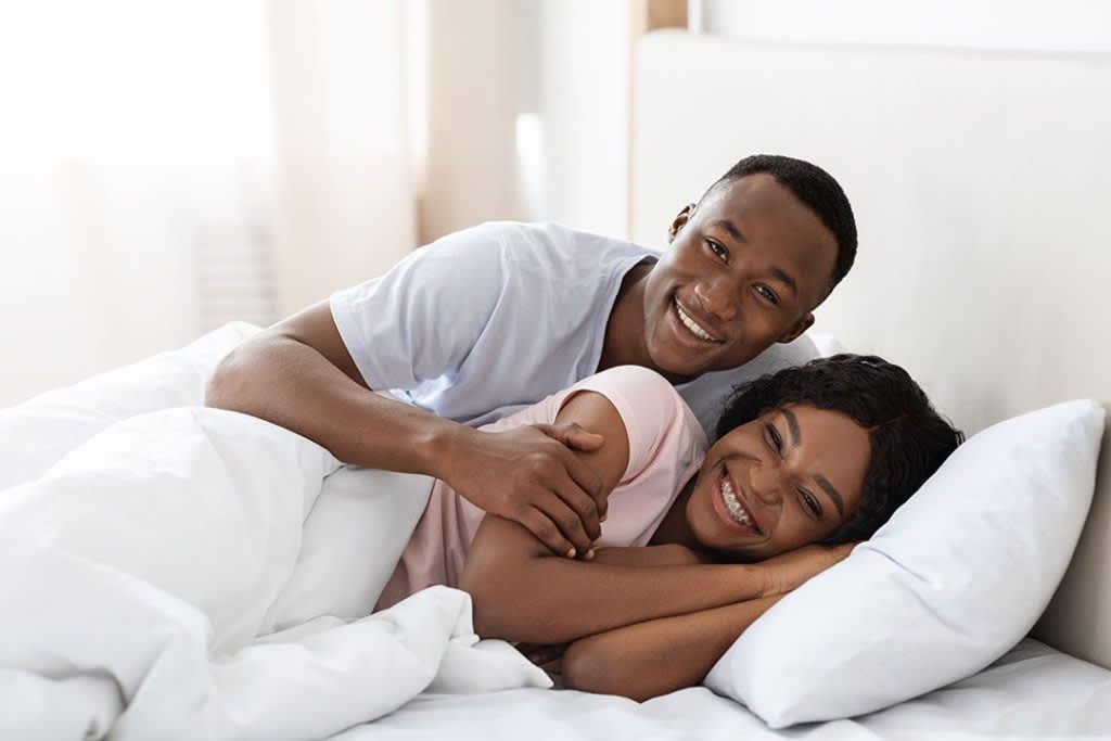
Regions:
M 522 523 L 554 553 L 585 553 L 600 532 L 601 482 L 563 444 L 597 447 L 597 435 L 538 427 L 480 432 L 373 393 L 327 301 L 231 352 L 206 403 L 288 428 L 349 463 L 442 479 L 483 510 Z

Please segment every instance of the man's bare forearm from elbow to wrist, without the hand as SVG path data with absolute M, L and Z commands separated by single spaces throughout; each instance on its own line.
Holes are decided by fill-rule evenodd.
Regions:
M 373 393 L 313 348 L 280 336 L 250 340 L 226 358 L 206 403 L 290 429 L 347 463 L 436 477 L 453 439 L 474 433 Z

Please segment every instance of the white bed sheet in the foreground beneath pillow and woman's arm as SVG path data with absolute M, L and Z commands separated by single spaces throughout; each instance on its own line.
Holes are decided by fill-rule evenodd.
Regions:
M 645 703 L 567 690 L 422 694 L 391 715 L 332 737 L 378 739 L 699 739 L 910 741 L 1111 738 L 1111 671 L 1027 639 L 984 671 L 888 710 L 772 731 L 707 689 Z

